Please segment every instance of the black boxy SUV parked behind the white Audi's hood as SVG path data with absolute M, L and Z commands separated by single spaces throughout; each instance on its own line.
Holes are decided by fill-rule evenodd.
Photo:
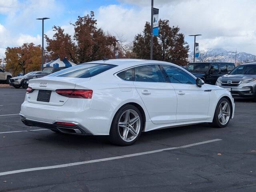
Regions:
M 235 69 L 234 63 L 209 62 L 209 63 L 188 63 L 186 70 L 201 78 L 207 84 L 215 85 L 216 80 Z

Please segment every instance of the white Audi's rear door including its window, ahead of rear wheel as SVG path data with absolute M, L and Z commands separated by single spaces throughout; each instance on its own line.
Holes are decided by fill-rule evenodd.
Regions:
M 135 67 L 134 86 L 154 124 L 176 122 L 177 96 L 158 65 Z

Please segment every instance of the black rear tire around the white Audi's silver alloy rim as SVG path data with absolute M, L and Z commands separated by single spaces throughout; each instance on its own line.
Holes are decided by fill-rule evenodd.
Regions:
M 120 120 L 122 114 L 124 114 L 124 112 L 126 112 L 127 110 L 134 110 L 135 112 L 137 112 L 138 116 L 140 117 L 140 129 L 138 131 L 138 135 L 132 141 L 124 141 L 122 139 L 122 137 L 120 135 L 120 131 L 119 131 L 119 126 L 118 126 L 118 123 L 119 123 L 119 120 Z M 140 113 L 140 110 L 138 110 L 138 108 L 136 108 L 133 105 L 127 104 L 127 105 L 123 106 L 122 108 L 120 108 L 118 110 L 118 112 L 116 112 L 116 114 L 113 118 L 112 125 L 110 127 L 110 134 L 109 134 L 110 142 L 113 143 L 114 145 L 119 145 L 119 146 L 132 145 L 140 137 L 143 127 L 144 127 L 144 121 L 142 119 L 142 114 Z

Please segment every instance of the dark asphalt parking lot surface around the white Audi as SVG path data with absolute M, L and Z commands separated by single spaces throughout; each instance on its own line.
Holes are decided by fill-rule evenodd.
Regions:
M 23 125 L 25 92 L 0 88 L 0 191 L 256 191 L 256 103 L 250 100 L 235 100 L 226 128 L 162 129 L 118 147 L 106 136 Z

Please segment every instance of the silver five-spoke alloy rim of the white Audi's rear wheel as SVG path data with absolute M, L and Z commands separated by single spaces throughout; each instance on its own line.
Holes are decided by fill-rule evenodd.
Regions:
M 140 116 L 132 109 L 126 110 L 118 121 L 118 133 L 120 137 L 130 142 L 136 139 L 140 132 Z

